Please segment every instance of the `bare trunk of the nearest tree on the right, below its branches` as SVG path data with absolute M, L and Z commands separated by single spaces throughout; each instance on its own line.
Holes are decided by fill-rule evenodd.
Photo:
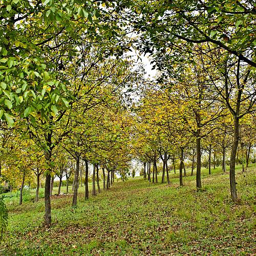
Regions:
M 239 118 L 234 116 L 234 133 L 233 133 L 233 145 L 230 155 L 230 171 L 229 171 L 229 182 L 230 182 L 230 193 L 233 202 L 238 201 L 237 187 L 236 187 L 236 154 L 239 141 Z

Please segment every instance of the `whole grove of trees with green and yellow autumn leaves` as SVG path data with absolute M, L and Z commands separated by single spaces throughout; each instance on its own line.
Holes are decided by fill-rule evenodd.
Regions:
M 168 159 L 179 158 L 182 185 L 184 152 L 193 155 L 201 189 L 202 147 L 209 170 L 211 156 L 222 152 L 224 171 L 231 147 L 230 191 L 238 201 L 238 145 L 248 162 L 255 144 L 254 14 L 249 1 L 5 0 L 0 178 L 21 177 L 23 188 L 27 173 L 44 174 L 50 225 L 53 177 L 70 157 L 76 205 L 81 161 L 86 199 L 89 164 L 93 177 L 99 166 L 124 177 L 139 158 L 153 163 L 155 181 L 160 157 L 162 181 L 166 172 L 170 182 Z M 155 80 L 144 80 L 126 57 L 132 47 L 150 54 Z M 139 101 L 129 108 L 135 88 Z

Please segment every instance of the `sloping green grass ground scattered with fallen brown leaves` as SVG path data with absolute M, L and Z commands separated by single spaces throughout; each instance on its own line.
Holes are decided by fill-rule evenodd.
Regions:
M 195 175 L 183 187 L 178 174 L 170 178 L 170 185 L 118 181 L 87 202 L 80 187 L 76 208 L 72 195 L 53 198 L 51 228 L 42 224 L 43 199 L 7 202 L 0 255 L 255 255 L 256 165 L 237 169 L 239 205 L 221 167 L 203 169 L 200 191 Z

